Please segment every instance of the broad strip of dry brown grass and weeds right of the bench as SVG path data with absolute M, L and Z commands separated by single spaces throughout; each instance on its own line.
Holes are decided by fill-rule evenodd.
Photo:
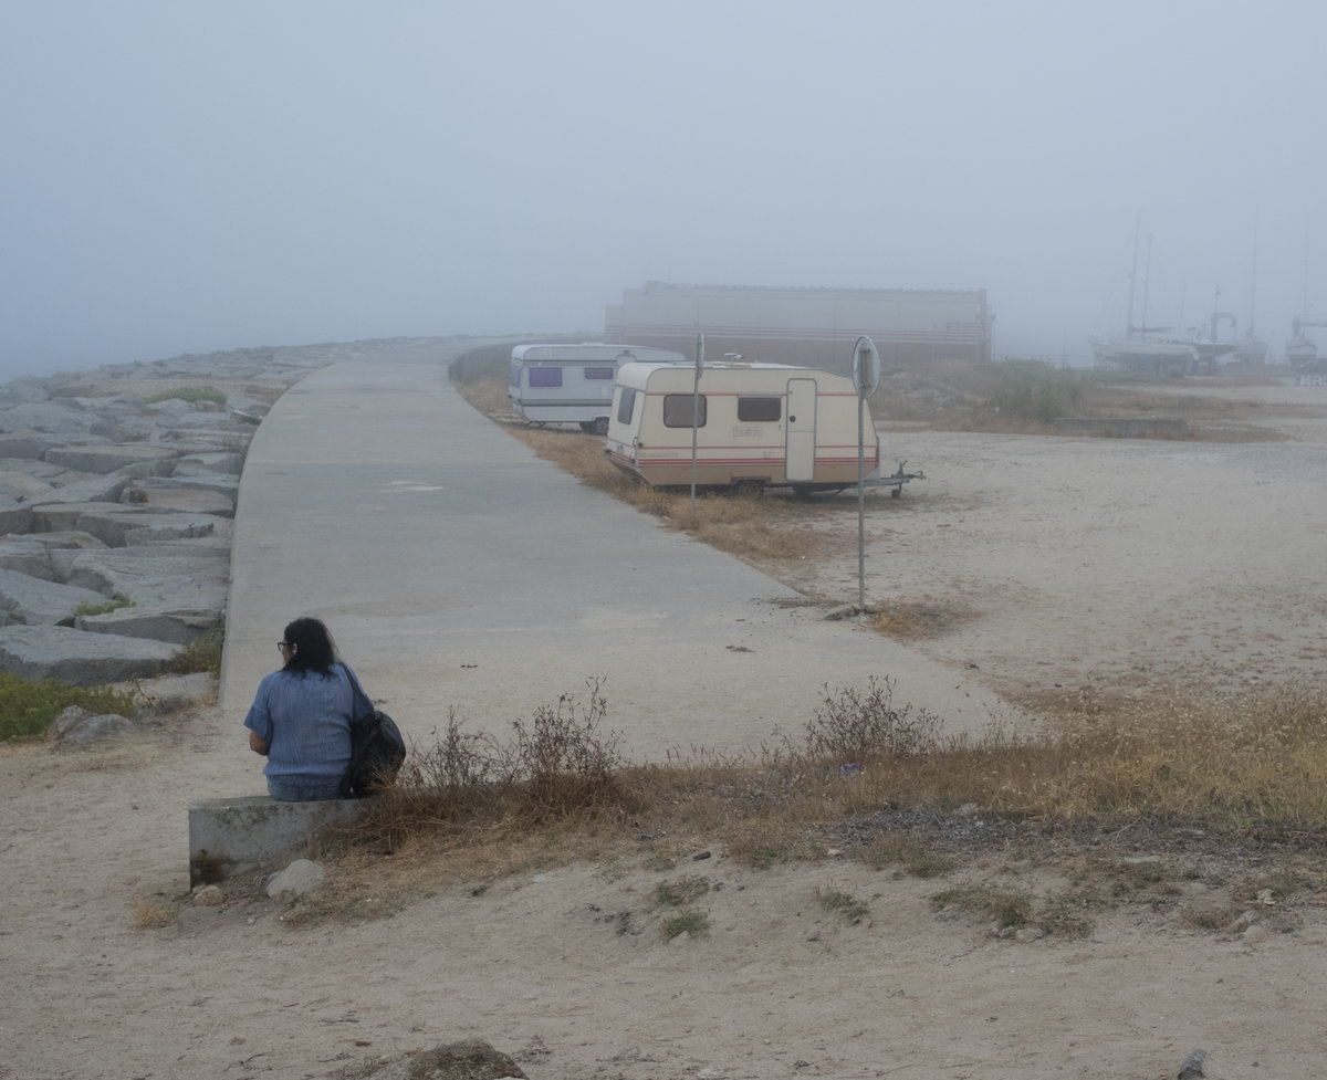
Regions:
M 504 743 L 453 722 L 434 746 L 415 747 L 358 823 L 324 835 L 324 853 L 341 860 L 336 885 L 287 922 L 391 914 L 441 878 L 482 892 L 498 877 L 577 861 L 691 866 L 715 848 L 756 869 L 837 852 L 896 874 L 951 877 L 938 908 L 1063 937 L 1085 933 L 1101 908 L 1177 908 L 1189 877 L 1227 889 L 1212 901 L 1220 914 L 1185 915 L 1213 929 L 1230 923 L 1226 904 L 1323 894 L 1320 691 L 1172 701 L 1109 722 L 1071 716 L 942 738 L 889 690 L 827 687 L 804 731 L 775 732 L 758 754 L 649 767 L 617 756 L 593 685 L 584 706 L 564 695 Z M 1157 854 L 1124 860 L 1121 850 Z M 1059 865 L 1072 884 L 1036 894 L 965 880 L 993 857 Z M 709 888 L 685 873 L 658 885 L 654 905 L 686 908 Z

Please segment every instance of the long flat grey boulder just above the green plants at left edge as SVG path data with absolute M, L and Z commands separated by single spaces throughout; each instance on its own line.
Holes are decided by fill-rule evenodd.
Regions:
M 69 626 L 0 626 L 0 671 L 70 686 L 151 678 L 178 651 L 162 641 L 86 634 Z

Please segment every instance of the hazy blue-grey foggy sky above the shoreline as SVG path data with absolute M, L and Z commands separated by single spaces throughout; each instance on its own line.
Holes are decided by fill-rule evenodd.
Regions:
M 1135 222 L 1149 322 L 1220 288 L 1279 357 L 1324 46 L 1320 0 L 8 0 L 0 378 L 598 334 L 648 280 L 985 288 L 997 357 L 1085 364 Z

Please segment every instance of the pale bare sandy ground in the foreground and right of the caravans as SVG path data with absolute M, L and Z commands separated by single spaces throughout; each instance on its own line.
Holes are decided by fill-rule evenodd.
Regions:
M 1225 393 L 1327 409 L 1327 390 Z M 917 649 L 1030 709 L 1318 681 L 1327 422 L 1255 419 L 1294 439 L 896 429 L 886 454 L 928 479 L 873 506 L 868 593 L 934 628 Z M 824 523 L 824 555 L 787 577 L 852 598 L 855 500 Z M 1100 911 L 1084 938 L 998 939 L 930 904 L 962 873 L 1063 885 L 1014 854 L 921 881 L 718 848 L 439 880 L 390 918 L 293 929 L 256 881 L 220 908 L 188 898 L 183 808 L 252 768 L 215 709 L 86 751 L 0 748 L 0 1077 L 354 1076 L 471 1036 L 533 1080 L 1161 1077 L 1198 1048 L 1209 1077 L 1323 1075 L 1322 894 L 1198 929 L 1186 906 L 1231 898 L 1201 854 L 1162 854 L 1168 901 Z M 707 880 L 710 933 L 669 942 L 650 894 L 681 876 Z M 869 914 L 827 910 L 827 890 Z M 154 911 L 166 925 L 139 929 Z

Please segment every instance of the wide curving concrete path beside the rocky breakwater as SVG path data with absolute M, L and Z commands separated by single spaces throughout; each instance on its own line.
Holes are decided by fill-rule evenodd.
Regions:
M 422 740 L 449 710 L 504 734 L 563 694 L 584 705 L 597 678 L 637 762 L 758 748 L 799 731 L 823 685 L 871 675 L 954 730 L 998 706 L 864 626 L 782 606 L 798 593 L 535 458 L 451 389 L 454 356 L 321 369 L 263 421 L 235 520 L 227 722 L 300 614 Z

